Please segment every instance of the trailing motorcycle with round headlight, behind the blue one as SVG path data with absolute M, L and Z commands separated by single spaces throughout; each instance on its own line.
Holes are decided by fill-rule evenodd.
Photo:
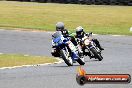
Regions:
M 81 40 L 82 46 L 88 51 L 87 55 L 91 58 L 98 59 L 101 61 L 103 59 L 101 55 L 101 50 L 96 46 L 96 44 L 92 41 L 92 32 L 84 36 Z

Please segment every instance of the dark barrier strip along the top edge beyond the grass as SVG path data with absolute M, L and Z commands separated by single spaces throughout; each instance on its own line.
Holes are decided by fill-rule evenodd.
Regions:
M 22 0 L 31 2 L 50 2 L 65 4 L 95 4 L 95 5 L 132 5 L 132 0 Z

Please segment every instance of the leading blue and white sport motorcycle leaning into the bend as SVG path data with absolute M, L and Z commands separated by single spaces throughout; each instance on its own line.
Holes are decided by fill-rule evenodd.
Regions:
M 60 31 L 53 35 L 52 46 L 57 49 L 58 54 L 68 66 L 72 66 L 74 61 L 80 65 L 84 65 L 84 58 L 80 57 L 77 48 L 70 41 L 70 38 L 65 38 Z

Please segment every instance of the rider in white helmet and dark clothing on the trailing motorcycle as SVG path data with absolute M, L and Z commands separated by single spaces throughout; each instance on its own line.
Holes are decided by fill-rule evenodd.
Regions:
M 82 26 L 78 26 L 76 28 L 76 35 L 75 38 L 78 38 L 80 40 L 82 40 L 82 38 L 84 38 L 84 36 L 88 36 L 87 33 L 84 32 L 84 29 Z M 92 41 L 96 44 L 96 46 L 100 49 L 100 50 L 104 50 L 104 48 L 101 47 L 99 41 L 95 38 L 92 38 Z M 87 55 L 88 53 L 85 52 L 85 47 L 82 47 L 82 51 L 84 52 L 85 55 Z

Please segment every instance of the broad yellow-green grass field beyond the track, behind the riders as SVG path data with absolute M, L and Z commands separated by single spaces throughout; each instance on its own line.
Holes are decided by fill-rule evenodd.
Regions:
M 131 6 L 74 5 L 35 2 L 0 2 L 0 27 L 54 31 L 63 21 L 74 29 L 82 25 L 87 32 L 132 35 Z

